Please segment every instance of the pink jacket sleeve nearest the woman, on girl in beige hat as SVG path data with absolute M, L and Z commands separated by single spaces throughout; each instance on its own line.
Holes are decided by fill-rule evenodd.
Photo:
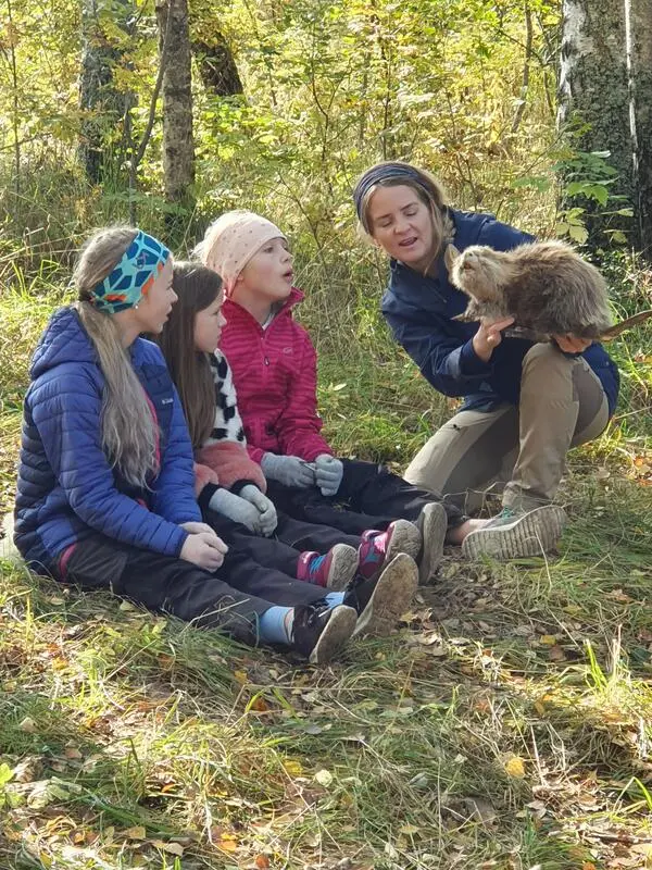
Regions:
M 298 456 L 312 462 L 319 453 L 333 456 L 333 449 L 319 434 L 317 414 L 317 355 L 304 333 L 301 361 L 294 369 L 286 407 L 277 424 L 278 443 L 285 456 Z

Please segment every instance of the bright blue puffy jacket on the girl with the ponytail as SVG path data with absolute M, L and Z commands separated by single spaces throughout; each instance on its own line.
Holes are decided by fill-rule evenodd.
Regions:
M 179 523 L 201 520 L 188 430 L 163 356 L 142 338 L 129 350 L 160 427 L 160 471 L 142 490 L 102 450 L 104 377 L 77 312 L 57 311 L 39 339 L 25 397 L 14 532 L 35 570 L 51 571 L 92 532 L 178 557 L 188 536 Z

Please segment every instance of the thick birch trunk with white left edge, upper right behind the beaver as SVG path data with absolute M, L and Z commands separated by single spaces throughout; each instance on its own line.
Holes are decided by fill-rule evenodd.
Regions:
M 624 0 L 564 0 L 559 122 L 576 128 L 573 144 L 578 151 L 610 152 L 606 162 L 617 175 L 609 190 L 625 198 L 617 201 L 618 208 L 634 202 L 628 88 Z M 593 245 L 600 243 L 604 228 L 631 231 L 627 219 L 605 221 L 601 212 L 606 209 L 594 200 L 573 204 L 587 209 Z

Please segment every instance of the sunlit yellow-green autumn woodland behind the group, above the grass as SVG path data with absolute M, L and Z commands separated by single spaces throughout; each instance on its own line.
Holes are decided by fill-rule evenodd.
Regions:
M 192 235 L 263 203 L 313 252 L 347 256 L 355 175 L 408 158 L 461 204 L 649 246 L 652 0 L 566 0 L 563 24 L 549 0 L 3 4 L 0 207 L 16 228 L 51 235 L 47 212 L 74 236 L 92 208 Z

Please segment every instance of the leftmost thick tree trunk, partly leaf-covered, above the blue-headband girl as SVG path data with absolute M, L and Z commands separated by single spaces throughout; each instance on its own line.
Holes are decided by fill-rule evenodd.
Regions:
M 118 21 L 126 22 L 129 0 L 118 0 Z M 82 123 L 78 156 L 92 184 L 103 181 L 111 161 L 111 140 L 125 114 L 125 100 L 113 83 L 113 70 L 122 58 L 121 47 L 111 45 L 102 26 L 103 15 L 115 16 L 114 0 L 82 1 L 82 73 L 79 107 L 87 113 Z M 125 35 L 126 36 L 126 35 Z

